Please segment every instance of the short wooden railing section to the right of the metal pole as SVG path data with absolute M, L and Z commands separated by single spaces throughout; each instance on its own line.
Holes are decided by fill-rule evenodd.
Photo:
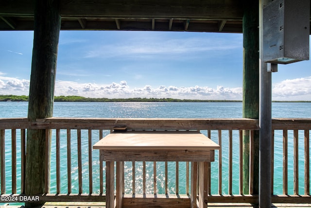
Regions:
M 310 129 L 309 118 L 276 118 L 272 120 L 273 136 L 273 158 L 272 170 L 283 172 L 282 193 L 276 198 L 278 202 L 286 201 L 291 194 L 293 198 L 304 198 L 311 203 L 310 199 Z M 278 134 L 278 136 L 277 136 Z M 281 137 L 281 140 L 276 140 Z M 282 161 L 276 160 L 276 155 L 281 156 Z M 289 164 L 289 162 L 291 163 Z M 289 167 L 289 165 L 291 167 Z M 274 172 L 273 174 L 274 175 Z M 289 177 L 291 175 L 291 177 Z M 272 178 L 272 192 L 275 192 Z M 288 185 L 291 185 L 291 188 Z M 296 199 L 303 201 L 303 199 Z M 299 201 L 299 202 L 300 202 Z

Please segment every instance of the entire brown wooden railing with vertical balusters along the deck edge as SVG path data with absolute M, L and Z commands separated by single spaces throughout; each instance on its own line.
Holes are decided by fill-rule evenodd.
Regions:
M 46 193 L 40 195 L 40 200 L 105 201 L 105 165 L 99 162 L 99 152 L 92 150 L 92 145 L 108 134 L 113 127 L 119 125 L 125 125 L 131 130 L 198 130 L 207 134 L 222 147 L 220 151 L 215 151 L 215 162 L 208 166 L 208 202 L 258 203 L 258 195 L 254 194 L 252 184 L 254 181 L 254 131 L 258 130 L 259 126 L 258 120 L 244 118 L 47 118 L 38 119 L 36 122 L 29 122 L 25 118 L 2 118 L 0 119 L 1 196 L 24 194 L 26 131 L 27 129 L 46 129 L 52 130 L 51 164 L 47 164 L 47 167 L 51 166 L 51 170 L 46 171 L 46 174 L 51 175 L 52 180 L 46 181 L 50 184 L 51 190 L 46 190 Z M 274 149 L 277 149 L 273 155 L 279 154 L 281 144 L 283 159 L 282 161 L 273 160 L 272 170 L 284 167 L 281 169 L 282 179 L 277 182 L 273 180 L 272 193 L 277 192 L 275 190 L 277 184 L 283 186 L 282 193 L 273 195 L 273 202 L 311 203 L 310 129 L 311 119 L 273 119 L 272 144 Z M 242 194 L 243 131 L 249 131 L 250 135 L 250 187 L 247 194 Z M 282 136 L 279 136 L 279 131 L 282 131 Z M 289 134 L 292 132 L 293 137 Z M 289 161 L 292 161 L 289 160 L 288 148 L 292 146 L 290 142 L 292 140 L 294 148 L 293 188 L 287 185 L 290 181 Z M 299 165 L 299 161 L 302 160 L 299 154 L 300 149 L 298 149 L 300 143 L 304 144 L 303 167 Z M 292 166 L 292 163 L 290 165 Z M 189 163 L 129 162 L 126 166 L 123 169 L 124 193 L 130 200 L 133 200 L 133 195 L 139 199 L 139 197 L 155 197 L 154 194 L 166 194 L 170 198 L 177 198 L 176 200 L 188 200 Z M 162 166 L 163 174 L 159 173 Z M 299 187 L 298 180 L 301 176 L 299 174 L 301 169 L 304 172 L 303 188 Z M 140 174 L 139 179 L 137 179 L 138 174 Z M 170 180 L 172 178 L 173 180 Z M 8 181 L 11 184 L 8 184 Z

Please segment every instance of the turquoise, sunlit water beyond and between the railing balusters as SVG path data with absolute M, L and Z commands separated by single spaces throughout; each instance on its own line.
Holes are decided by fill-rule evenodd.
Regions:
M 272 117 L 284 117 L 284 118 L 311 118 L 311 103 L 273 103 L 272 104 Z M 27 102 L 0 102 L 0 117 L 27 117 L 28 103 Z M 126 117 L 126 118 L 241 118 L 242 117 L 242 103 L 241 102 L 55 102 L 53 116 L 60 117 Z M 104 132 L 104 135 L 109 133 Z M 206 132 L 203 132 L 206 133 Z M 292 132 L 290 132 L 290 135 Z M 74 134 L 74 133 L 72 133 Z M 10 132 L 6 132 L 6 192 L 10 193 L 11 186 L 11 141 Z M 61 136 L 66 135 L 65 131 L 61 131 Z M 92 132 L 93 137 L 96 139 L 92 141 L 95 143 L 98 140 L 98 132 Z M 227 194 L 227 132 L 224 132 L 222 140 L 222 156 L 223 156 L 223 189 L 222 193 Z M 217 142 L 217 132 L 212 132 L 212 140 Z M 65 137 L 66 138 L 66 137 Z M 238 148 L 239 141 L 238 133 L 233 133 L 233 148 Z M 82 148 L 87 149 L 87 132 L 82 132 Z M 64 155 L 61 156 L 61 181 L 64 181 L 61 187 L 62 193 L 67 193 L 67 143 L 66 139 L 61 141 L 61 152 Z M 17 138 L 17 146 L 19 145 Z M 303 132 L 299 131 L 299 193 L 303 194 L 304 190 L 304 171 L 303 171 Z M 77 156 L 74 150 L 76 150 L 76 139 L 71 141 L 71 164 L 72 164 L 72 192 L 78 192 L 78 173 L 77 173 Z M 293 194 L 293 139 L 292 136 L 288 138 L 288 189 L 289 194 Z M 62 151 L 63 150 L 63 151 Z M 282 194 L 282 131 L 275 132 L 275 155 L 274 155 L 274 194 Z M 52 157 L 55 157 L 55 141 L 52 140 Z M 212 163 L 212 188 L 211 193 L 218 193 L 218 153 L 215 152 L 215 162 Z M 88 152 L 86 151 L 87 155 Z M 93 191 L 99 192 L 99 162 L 96 159 L 98 152 L 93 151 Z M 20 155 L 20 149 L 17 149 L 17 156 Z M 87 156 L 86 156 L 87 157 Z M 88 192 L 88 161 L 83 156 L 83 192 Z M 234 152 L 233 158 L 238 158 L 238 152 Z M 157 164 L 157 171 L 159 178 L 157 181 L 157 189 L 159 192 L 164 191 L 164 172 L 163 163 Z M 238 171 L 238 160 L 234 160 L 233 169 Z M 141 191 L 142 184 L 142 170 L 141 163 L 136 164 L 136 180 L 137 189 L 136 192 Z M 147 176 L 153 174 L 153 163 L 147 162 L 146 164 Z M 185 169 L 185 164 L 180 163 L 180 172 Z M 51 192 L 56 192 L 56 175 L 55 175 L 55 163 L 52 160 L 51 164 Z M 132 163 L 125 163 L 125 191 L 131 191 L 131 172 Z M 174 187 L 175 164 L 169 163 L 169 187 Z M 214 172 L 213 172 L 214 171 Z M 2 176 L 1 176 L 2 177 Z M 20 163 L 17 161 L 17 192 L 20 191 Z M 153 178 L 147 179 L 147 193 L 153 191 Z M 180 180 L 185 180 L 185 175 L 179 175 Z M 150 180 L 150 181 L 148 181 Z M 65 183 L 66 182 L 66 183 Z M 150 184 L 150 185 L 149 185 Z M 185 193 L 185 184 L 180 183 L 179 192 Z M 233 193 L 238 194 L 239 191 L 239 174 L 233 175 Z M 174 188 L 169 189 L 169 192 L 173 193 Z

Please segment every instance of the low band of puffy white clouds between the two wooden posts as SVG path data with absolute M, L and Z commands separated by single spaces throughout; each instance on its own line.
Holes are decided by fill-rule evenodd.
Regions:
M 222 90 L 218 90 L 222 89 Z M 131 88 L 126 81 L 120 83 L 112 82 L 108 85 L 95 83 L 78 84 L 75 82 L 57 81 L 55 95 L 80 95 L 85 97 L 108 97 L 108 98 L 129 98 L 129 97 L 172 97 L 180 99 L 242 99 L 242 88 L 225 88 L 218 86 L 218 89 L 210 87 L 152 87 L 145 85 L 141 88 Z

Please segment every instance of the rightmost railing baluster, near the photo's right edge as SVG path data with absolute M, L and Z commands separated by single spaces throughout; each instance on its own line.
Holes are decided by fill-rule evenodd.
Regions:
M 309 130 L 305 130 L 305 195 L 310 195 Z

